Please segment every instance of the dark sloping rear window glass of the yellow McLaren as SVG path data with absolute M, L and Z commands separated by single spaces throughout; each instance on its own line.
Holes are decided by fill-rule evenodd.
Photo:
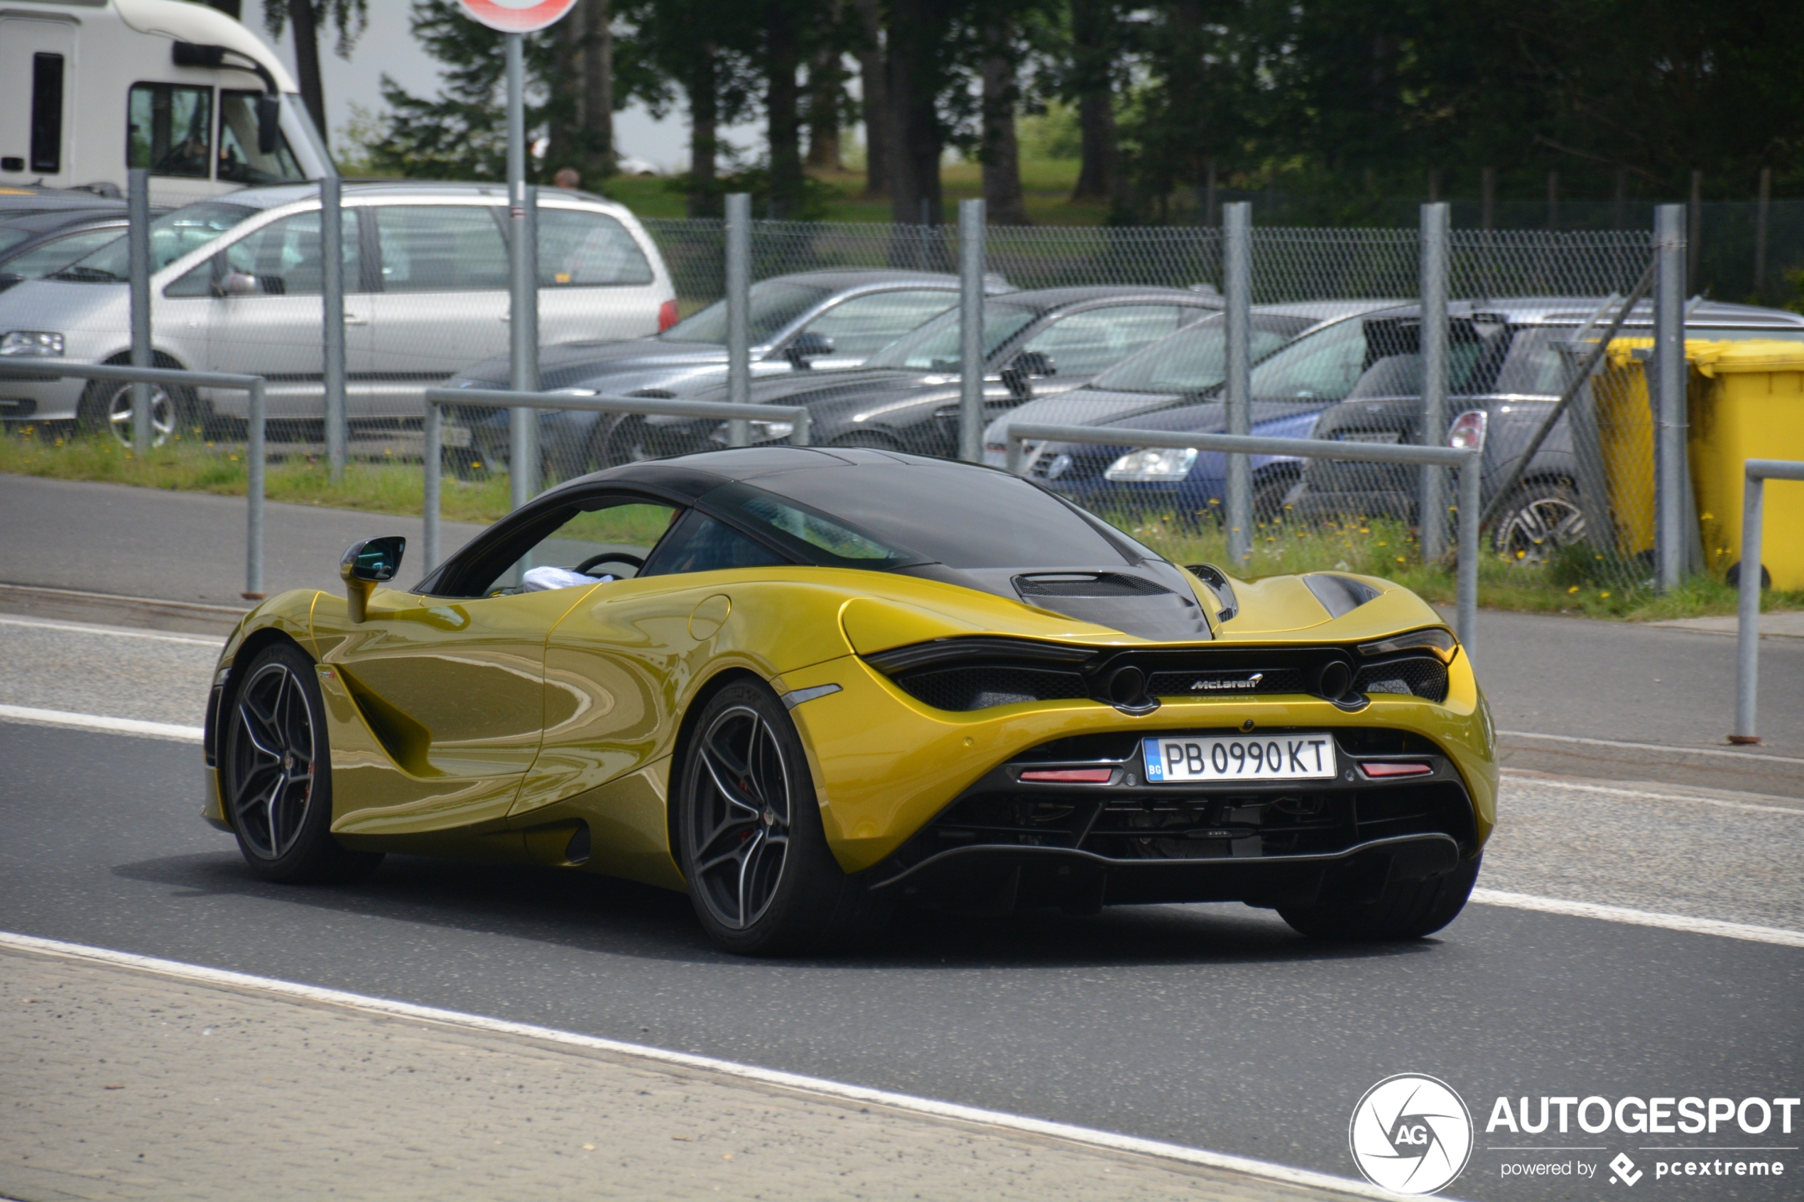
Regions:
M 778 494 L 855 530 L 875 550 L 895 548 L 893 560 L 875 550 L 859 562 L 815 562 L 889 568 L 942 562 L 947 568 L 1072 568 L 1126 564 L 1122 551 L 1077 510 L 1025 479 L 1005 472 L 945 470 L 897 463 L 823 467 L 758 478 L 747 494 Z M 727 492 L 722 488 L 718 492 Z M 716 494 L 709 494 L 714 499 Z M 972 521 L 981 514 L 983 521 Z M 805 537 L 805 535 L 803 535 Z M 812 546 L 821 546 L 806 539 Z M 906 550 L 904 550 L 906 548 Z M 842 555 L 842 544 L 835 544 Z

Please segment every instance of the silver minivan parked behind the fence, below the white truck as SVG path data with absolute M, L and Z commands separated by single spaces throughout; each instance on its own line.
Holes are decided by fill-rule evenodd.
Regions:
M 352 420 L 419 418 L 420 389 L 505 353 L 507 193 L 480 184 L 345 186 Z M 622 205 L 539 193 L 539 339 L 635 339 L 675 324 L 676 292 Z M 0 294 L 0 357 L 130 362 L 126 240 Z M 152 344 L 162 368 L 269 380 L 269 416 L 319 420 L 319 189 L 251 187 L 152 223 Z M 45 364 L 49 368 L 49 364 Z M 0 380 L 0 418 L 126 433 L 130 386 Z M 240 391 L 159 389 L 155 438 L 244 416 Z

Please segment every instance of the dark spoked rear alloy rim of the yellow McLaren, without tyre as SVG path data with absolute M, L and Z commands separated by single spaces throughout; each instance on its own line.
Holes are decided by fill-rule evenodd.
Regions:
M 770 908 L 788 861 L 788 764 L 770 723 L 743 705 L 718 714 L 696 750 L 691 887 L 722 926 L 745 930 Z

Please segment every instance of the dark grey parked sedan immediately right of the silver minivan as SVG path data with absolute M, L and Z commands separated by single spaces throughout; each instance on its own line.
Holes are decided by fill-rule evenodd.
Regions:
M 985 279 L 990 296 L 1012 292 L 1007 279 Z M 958 276 L 888 269 L 796 272 L 750 287 L 752 378 L 797 377 L 862 366 L 922 323 L 958 305 Z M 583 341 L 539 351 L 539 387 L 547 393 L 610 396 L 700 396 L 727 378 L 727 303 L 716 301 L 651 339 Z M 507 387 L 507 355 L 464 368 L 446 387 Z M 453 463 L 505 463 L 511 445 L 505 409 L 460 407 Z M 464 434 L 464 429 L 471 434 Z M 619 431 L 619 433 L 617 433 Z M 599 413 L 539 414 L 539 447 L 557 476 L 644 458 L 637 425 Z

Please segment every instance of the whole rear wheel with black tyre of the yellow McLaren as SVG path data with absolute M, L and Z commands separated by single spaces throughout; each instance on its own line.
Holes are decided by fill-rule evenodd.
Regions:
M 676 782 L 676 843 L 709 937 L 740 955 L 835 952 L 889 906 L 826 845 L 801 737 L 778 696 L 734 681 L 702 706 Z

